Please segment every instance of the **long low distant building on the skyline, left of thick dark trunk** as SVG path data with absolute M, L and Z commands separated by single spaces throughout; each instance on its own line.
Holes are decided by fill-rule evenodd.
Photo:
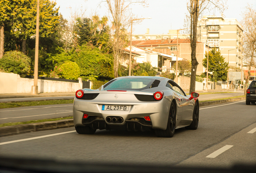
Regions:
M 149 34 L 149 28 L 145 34 L 132 34 L 132 40 L 156 40 L 156 39 L 177 39 L 177 30 L 169 30 L 167 34 Z M 178 38 L 189 38 L 188 34 L 182 34 L 178 30 Z

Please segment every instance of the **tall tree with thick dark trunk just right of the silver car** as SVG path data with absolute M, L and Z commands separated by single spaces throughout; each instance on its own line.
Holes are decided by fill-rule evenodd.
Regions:
M 202 13 L 205 10 L 211 12 L 211 10 L 217 8 L 217 10 L 222 13 L 223 10 L 225 10 L 225 2 L 226 0 L 188 0 L 188 20 L 185 20 L 185 22 L 187 22 L 185 25 L 190 30 L 189 32 L 192 63 L 189 93 L 194 92 L 196 88 L 196 68 L 198 65 L 198 61 L 196 60 L 196 37 L 198 18 L 202 16 Z

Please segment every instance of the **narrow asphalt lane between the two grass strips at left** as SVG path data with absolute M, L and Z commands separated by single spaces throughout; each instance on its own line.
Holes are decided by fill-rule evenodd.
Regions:
M 60 118 L 73 115 L 73 104 L 40 105 L 0 109 L 0 124 Z

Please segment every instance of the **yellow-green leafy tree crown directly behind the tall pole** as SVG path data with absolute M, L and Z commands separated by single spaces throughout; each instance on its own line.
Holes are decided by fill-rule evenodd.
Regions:
M 37 0 L 16 0 L 12 4 L 12 32 L 22 40 L 22 52 L 27 51 L 27 39 L 35 35 Z M 40 37 L 48 37 L 55 32 L 60 16 L 59 8 L 54 8 L 56 2 L 40 1 Z

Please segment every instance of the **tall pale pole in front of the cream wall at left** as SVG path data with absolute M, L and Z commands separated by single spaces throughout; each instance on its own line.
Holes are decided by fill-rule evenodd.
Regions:
M 38 47 L 39 47 L 39 2 L 37 0 L 37 25 L 35 30 L 35 66 L 34 66 L 34 85 L 32 86 L 32 94 L 38 94 L 37 78 L 38 78 Z

